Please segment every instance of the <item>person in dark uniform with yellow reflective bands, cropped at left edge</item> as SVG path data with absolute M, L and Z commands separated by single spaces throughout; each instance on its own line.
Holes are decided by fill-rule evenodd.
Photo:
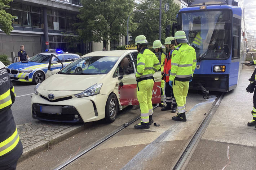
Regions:
M 15 170 L 23 151 L 10 109 L 14 101 L 14 87 L 0 61 L 0 170 Z

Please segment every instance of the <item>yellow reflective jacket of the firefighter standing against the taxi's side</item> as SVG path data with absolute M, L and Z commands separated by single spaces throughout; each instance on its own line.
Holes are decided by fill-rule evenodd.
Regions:
M 160 67 L 161 64 L 155 54 L 147 47 L 143 48 L 137 56 L 136 80 L 153 76 Z

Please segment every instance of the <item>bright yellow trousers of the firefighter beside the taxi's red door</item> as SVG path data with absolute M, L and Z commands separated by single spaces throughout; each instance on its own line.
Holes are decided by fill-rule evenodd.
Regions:
M 138 91 L 137 87 L 137 98 L 140 103 L 141 122 L 149 123 L 149 116 L 153 114 L 151 100 L 154 81 L 153 79 L 143 80 L 138 82 L 137 86 L 140 88 L 140 91 Z

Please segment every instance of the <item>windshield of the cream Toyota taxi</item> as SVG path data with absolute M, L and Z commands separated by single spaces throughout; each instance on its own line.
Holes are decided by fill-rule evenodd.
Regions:
M 117 56 L 83 57 L 67 65 L 59 74 L 107 74 L 117 60 Z

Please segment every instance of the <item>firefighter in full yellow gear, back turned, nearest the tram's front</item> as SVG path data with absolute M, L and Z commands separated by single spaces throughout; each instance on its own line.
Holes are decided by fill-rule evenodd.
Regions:
M 178 114 L 172 120 L 187 121 L 186 119 L 186 97 L 189 90 L 189 82 L 197 65 L 195 49 L 188 45 L 184 31 L 175 33 L 175 50 L 172 52 L 172 67 L 169 77 L 169 84 L 172 86 L 173 94 L 177 103 Z

